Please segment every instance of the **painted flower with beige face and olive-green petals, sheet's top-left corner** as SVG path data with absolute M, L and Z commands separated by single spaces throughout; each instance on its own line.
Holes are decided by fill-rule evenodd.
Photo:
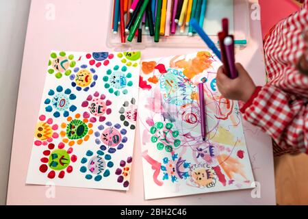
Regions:
M 70 68 L 74 68 L 76 62 L 74 60 L 74 55 L 66 56 L 65 52 L 51 53 L 51 59 L 49 60 L 49 74 L 55 74 L 57 79 L 60 79 L 63 75 L 69 76 L 72 73 Z

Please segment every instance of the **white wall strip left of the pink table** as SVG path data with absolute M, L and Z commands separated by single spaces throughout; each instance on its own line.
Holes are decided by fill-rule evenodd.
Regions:
M 0 0 L 0 205 L 5 205 L 23 47 L 31 0 Z

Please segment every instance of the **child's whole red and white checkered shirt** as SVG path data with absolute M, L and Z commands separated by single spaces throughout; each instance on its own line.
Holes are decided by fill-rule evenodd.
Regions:
M 264 40 L 268 83 L 257 87 L 242 107 L 245 120 L 274 140 L 274 155 L 308 153 L 308 76 L 296 68 L 305 51 L 308 0 L 273 27 Z

